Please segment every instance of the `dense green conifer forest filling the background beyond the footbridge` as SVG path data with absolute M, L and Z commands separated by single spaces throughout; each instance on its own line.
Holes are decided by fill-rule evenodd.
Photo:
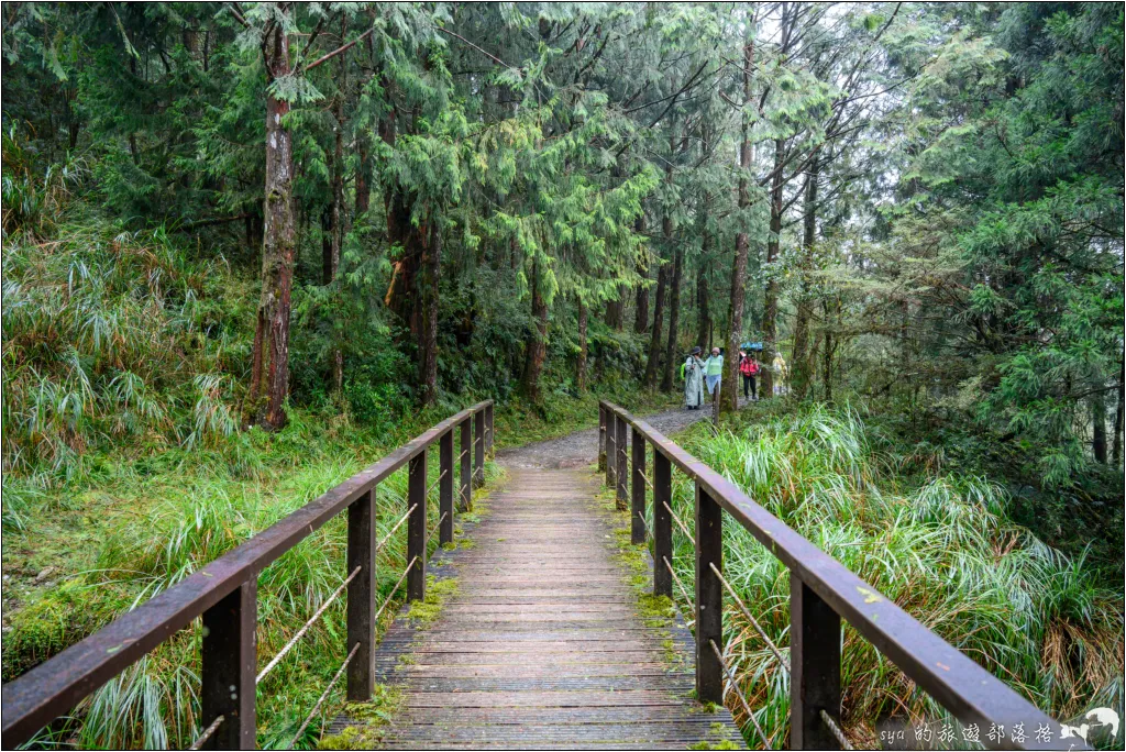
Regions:
M 756 341 L 768 399 L 1073 486 L 1123 456 L 1121 43 L 1105 3 L 14 3 L 6 469 Z

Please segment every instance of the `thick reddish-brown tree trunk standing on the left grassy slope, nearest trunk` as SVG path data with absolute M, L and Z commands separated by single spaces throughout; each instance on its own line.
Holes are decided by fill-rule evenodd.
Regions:
M 280 12 L 288 14 L 283 6 Z M 276 24 L 265 44 L 269 83 L 289 73 L 289 37 Z M 268 430 L 285 426 L 289 393 L 289 308 L 293 294 L 293 141 L 285 127 L 289 102 L 266 97 L 266 200 L 262 233 L 262 292 L 254 331 L 250 408 Z

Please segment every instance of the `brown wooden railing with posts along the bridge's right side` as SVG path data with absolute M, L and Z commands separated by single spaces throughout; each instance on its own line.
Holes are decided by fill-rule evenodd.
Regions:
M 1024 742 L 1000 741 L 1009 749 L 1058 749 L 1061 725 L 1008 684 L 924 627 L 876 589 L 825 554 L 741 489 L 673 441 L 609 402 L 599 403 L 599 468 L 625 508 L 626 426 L 633 442 L 632 540 L 644 543 L 645 444 L 653 446 L 653 592 L 672 597 L 664 559 L 672 559 L 671 466 L 696 483 L 696 692 L 700 701 L 723 702 L 723 664 L 711 643 L 723 644 L 723 511 L 731 514 L 790 572 L 790 747 L 840 749 L 821 713 L 840 723 L 840 659 L 843 617 L 904 674 L 964 724 L 1012 729 L 1024 724 Z M 1049 733 L 1034 732 L 1045 726 Z M 1067 740 L 1069 742 L 1071 740 Z M 1072 749 L 1088 749 L 1082 740 Z

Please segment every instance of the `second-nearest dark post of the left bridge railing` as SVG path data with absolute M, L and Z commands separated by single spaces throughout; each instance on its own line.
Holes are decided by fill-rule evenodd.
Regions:
M 348 505 L 348 645 L 359 650 L 348 664 L 348 699 L 366 702 L 375 689 L 375 489 Z

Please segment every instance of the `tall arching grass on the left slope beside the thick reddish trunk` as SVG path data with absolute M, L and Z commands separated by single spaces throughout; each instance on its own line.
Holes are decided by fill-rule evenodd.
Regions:
M 75 206 L 54 240 L 19 232 L 3 248 L 3 468 L 47 485 L 98 449 L 232 435 L 231 350 L 250 320 L 221 258 Z

